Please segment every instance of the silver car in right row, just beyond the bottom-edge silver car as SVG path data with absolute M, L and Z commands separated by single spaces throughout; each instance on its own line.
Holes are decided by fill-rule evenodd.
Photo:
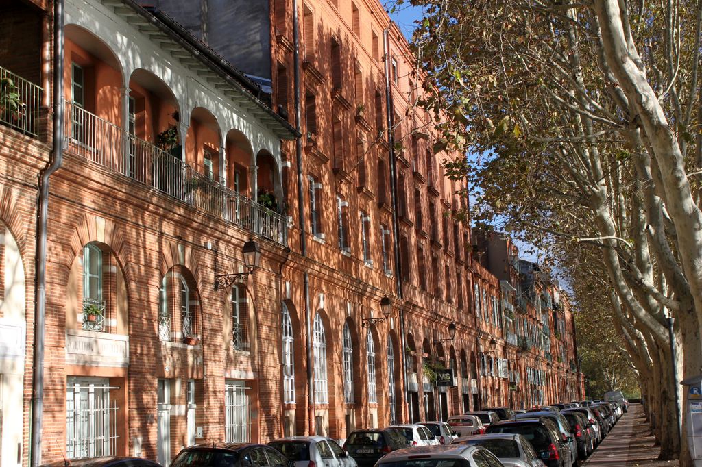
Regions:
M 519 434 L 462 436 L 453 440 L 453 444 L 482 446 L 489 449 L 505 467 L 543 467 L 543 462 L 534 451 L 534 447 Z

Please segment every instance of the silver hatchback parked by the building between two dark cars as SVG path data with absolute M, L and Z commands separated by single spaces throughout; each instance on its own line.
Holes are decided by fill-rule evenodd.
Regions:
M 357 467 L 356 461 L 336 441 L 324 436 L 291 436 L 268 443 L 278 449 L 295 467 Z

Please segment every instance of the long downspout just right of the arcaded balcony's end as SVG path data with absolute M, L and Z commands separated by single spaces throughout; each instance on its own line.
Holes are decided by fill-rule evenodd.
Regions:
M 303 140 L 301 129 L 302 109 L 300 105 L 300 20 L 298 18 L 298 0 L 293 0 L 293 81 L 295 86 L 295 156 L 298 168 L 298 221 L 300 226 L 300 255 L 307 257 L 307 232 L 305 231 L 305 190 L 303 184 Z M 314 434 L 314 373 L 312 372 L 312 313 L 310 311 L 310 275 L 303 273 L 303 290 L 305 294 L 305 340 L 307 354 L 307 430 Z

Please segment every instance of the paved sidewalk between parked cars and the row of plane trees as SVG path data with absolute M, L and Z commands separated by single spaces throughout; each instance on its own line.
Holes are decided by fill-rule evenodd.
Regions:
M 677 467 L 677 461 L 658 461 L 659 449 L 641 404 L 629 406 L 583 467 Z

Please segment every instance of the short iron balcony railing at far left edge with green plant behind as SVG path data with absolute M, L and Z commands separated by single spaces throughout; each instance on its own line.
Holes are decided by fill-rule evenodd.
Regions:
M 39 137 L 39 111 L 44 89 L 0 67 L 0 123 Z

